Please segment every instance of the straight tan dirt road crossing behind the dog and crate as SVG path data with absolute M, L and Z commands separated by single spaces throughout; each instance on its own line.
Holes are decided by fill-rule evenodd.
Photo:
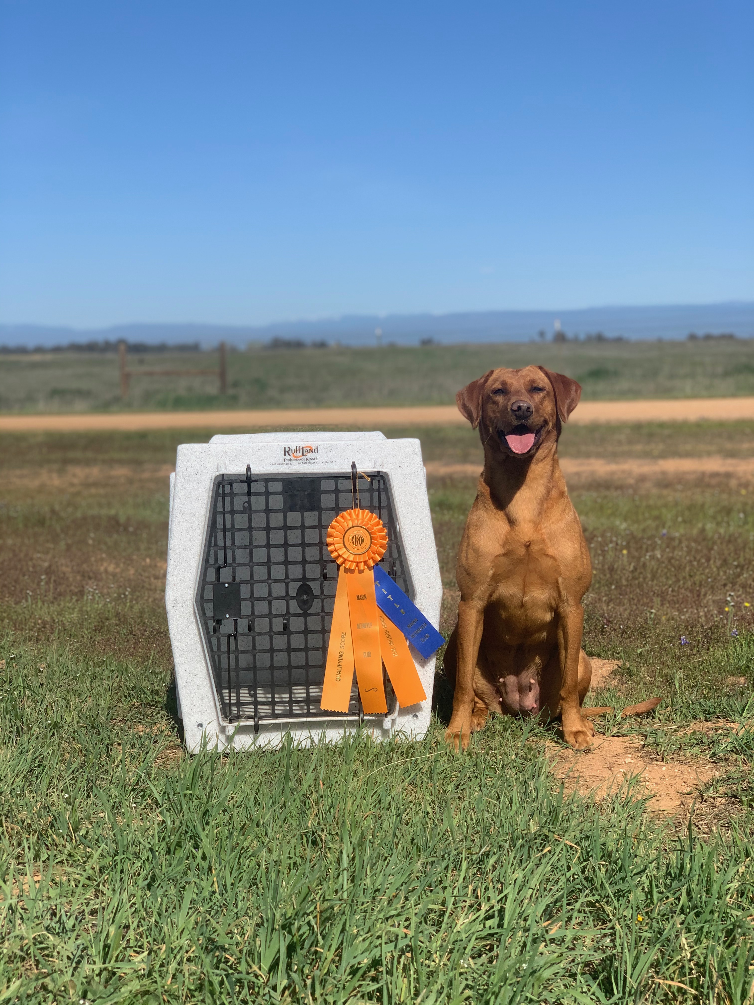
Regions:
M 584 401 L 570 421 L 689 422 L 754 419 L 754 398 L 679 398 L 667 401 Z M 234 412 L 114 412 L 105 415 L 0 415 L 0 432 L 140 429 L 258 429 L 280 426 L 446 426 L 465 419 L 454 405 L 420 408 L 312 408 Z

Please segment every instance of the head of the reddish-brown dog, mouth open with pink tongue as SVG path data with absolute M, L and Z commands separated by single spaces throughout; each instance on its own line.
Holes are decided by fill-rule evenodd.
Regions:
M 581 385 L 544 367 L 501 367 L 455 395 L 461 415 L 483 443 L 514 457 L 532 457 L 548 436 L 560 435 L 581 397 Z

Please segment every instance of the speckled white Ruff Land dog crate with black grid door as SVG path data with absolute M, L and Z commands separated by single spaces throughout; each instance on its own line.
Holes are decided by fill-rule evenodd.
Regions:
M 421 703 L 400 709 L 385 676 L 387 715 L 364 716 L 354 675 L 347 713 L 320 709 L 338 580 L 327 531 L 355 502 L 387 530 L 379 565 L 436 626 L 442 588 L 418 440 L 257 433 L 178 447 L 165 599 L 190 751 L 202 737 L 220 749 L 287 733 L 335 740 L 360 723 L 378 738 L 425 734 L 435 661 L 413 648 Z

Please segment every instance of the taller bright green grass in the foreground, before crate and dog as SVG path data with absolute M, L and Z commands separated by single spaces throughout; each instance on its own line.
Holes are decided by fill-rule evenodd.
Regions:
M 534 728 L 175 762 L 133 730 L 162 725 L 155 667 L 8 659 L 9 1000 L 746 998 L 750 837 L 564 798 Z

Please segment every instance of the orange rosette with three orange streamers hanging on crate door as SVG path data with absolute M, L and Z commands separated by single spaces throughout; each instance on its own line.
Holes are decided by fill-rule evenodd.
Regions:
M 328 549 L 341 571 L 320 702 L 327 712 L 348 712 L 356 669 L 364 712 L 384 715 L 383 662 L 403 708 L 426 697 L 405 637 L 377 608 L 373 569 L 387 544 L 382 521 L 368 510 L 347 510 L 328 529 Z

